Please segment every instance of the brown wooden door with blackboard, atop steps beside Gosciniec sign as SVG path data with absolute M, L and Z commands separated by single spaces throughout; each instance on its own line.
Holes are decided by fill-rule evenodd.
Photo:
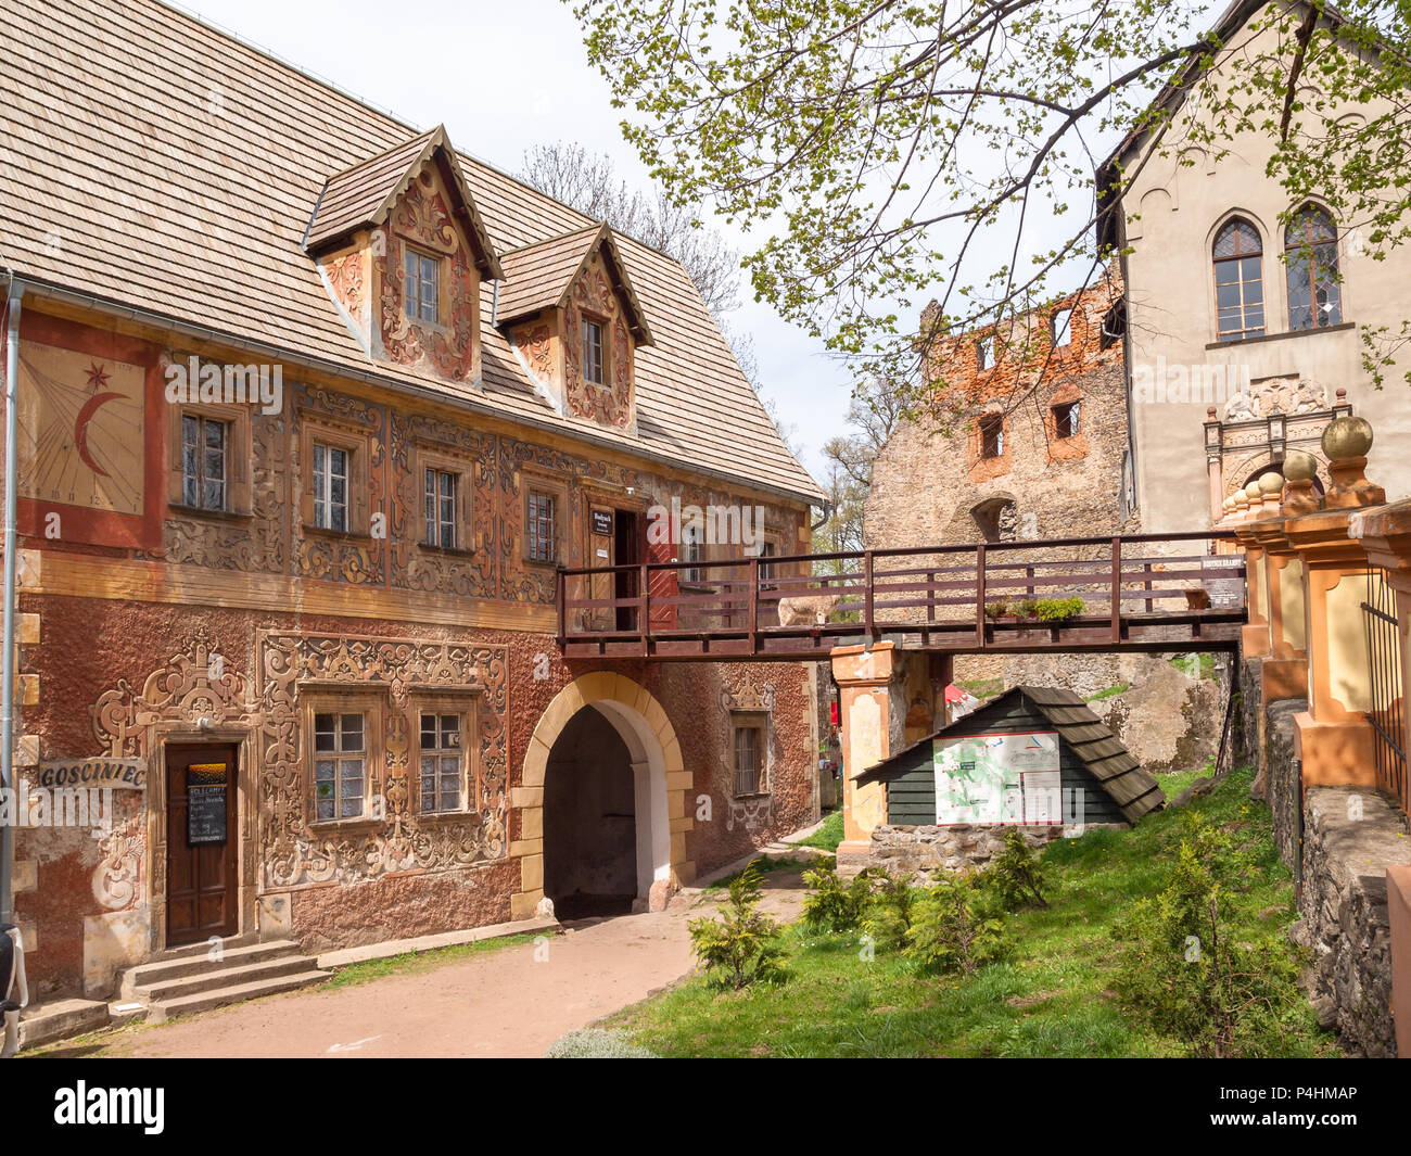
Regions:
M 166 943 L 233 936 L 237 748 L 166 748 Z

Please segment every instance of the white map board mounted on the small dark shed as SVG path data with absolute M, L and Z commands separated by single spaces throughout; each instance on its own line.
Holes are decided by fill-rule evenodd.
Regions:
M 934 741 L 935 824 L 1061 823 L 1058 733 Z

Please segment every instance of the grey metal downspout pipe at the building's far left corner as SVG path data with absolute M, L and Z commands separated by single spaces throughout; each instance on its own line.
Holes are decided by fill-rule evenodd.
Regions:
M 4 342 L 4 621 L 0 658 L 0 788 L 14 788 L 14 621 L 16 621 L 16 529 L 20 488 L 20 306 L 24 282 L 10 277 L 8 326 Z M 13 796 L 11 796 L 13 797 Z M 14 826 L 0 824 L 0 923 L 14 923 Z

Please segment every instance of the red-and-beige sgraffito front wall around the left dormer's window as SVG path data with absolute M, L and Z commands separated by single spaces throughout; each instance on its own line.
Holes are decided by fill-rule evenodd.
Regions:
M 466 239 L 456 229 L 446 198 L 429 169 L 422 169 L 388 216 L 382 291 L 378 311 L 382 349 L 389 361 L 428 368 L 452 381 L 476 375 L 476 306 L 480 282 Z M 406 316 L 406 246 L 446 260 L 449 285 L 442 294 L 442 325 Z

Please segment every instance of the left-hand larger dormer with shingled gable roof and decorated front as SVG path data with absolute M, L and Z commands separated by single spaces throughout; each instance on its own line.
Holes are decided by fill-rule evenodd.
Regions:
M 480 381 L 480 285 L 504 272 L 443 127 L 330 176 L 303 247 L 370 357 Z

